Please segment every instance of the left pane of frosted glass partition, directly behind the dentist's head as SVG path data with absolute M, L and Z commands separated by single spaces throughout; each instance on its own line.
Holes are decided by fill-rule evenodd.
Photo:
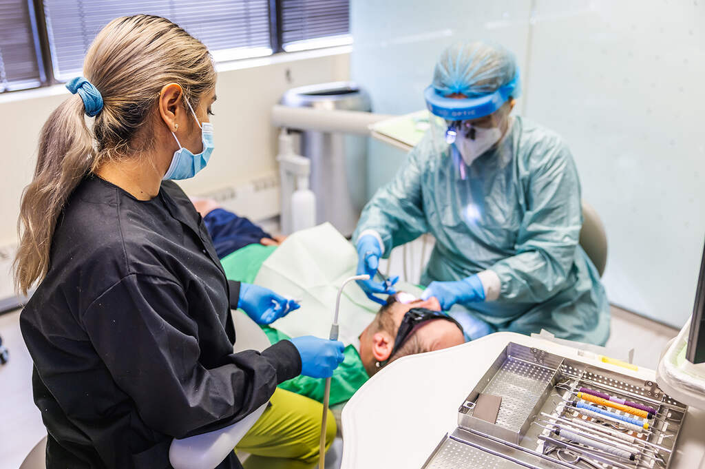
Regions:
M 454 40 L 486 37 L 501 42 L 516 54 L 523 69 L 529 6 L 513 0 L 353 0 L 351 75 L 370 93 L 376 112 L 424 109 L 423 90 L 431 83 L 436 59 Z M 404 157 L 400 150 L 370 142 L 370 195 L 391 178 Z

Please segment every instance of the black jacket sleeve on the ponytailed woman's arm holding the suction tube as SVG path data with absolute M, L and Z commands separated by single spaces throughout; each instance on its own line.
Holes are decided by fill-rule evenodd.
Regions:
M 180 285 L 130 274 L 82 315 L 111 376 L 154 430 L 183 438 L 226 427 L 266 403 L 277 384 L 300 373 L 301 358 L 290 341 L 262 353 L 224 353 L 223 365 L 204 367 L 196 322 L 186 311 Z

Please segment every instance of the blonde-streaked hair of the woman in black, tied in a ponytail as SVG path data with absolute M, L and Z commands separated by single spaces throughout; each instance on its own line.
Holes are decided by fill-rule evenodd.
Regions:
M 215 85 L 208 49 L 159 16 L 116 18 L 88 49 L 83 75 L 102 95 L 92 130 L 79 95 L 44 123 L 34 178 L 20 203 L 15 282 L 26 294 L 49 270 L 51 239 L 68 197 L 85 176 L 109 160 L 149 150 L 159 91 L 179 83 L 193 106 Z

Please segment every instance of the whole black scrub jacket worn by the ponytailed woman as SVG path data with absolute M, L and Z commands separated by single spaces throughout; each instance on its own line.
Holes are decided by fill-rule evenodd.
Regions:
M 171 468 L 171 439 L 237 422 L 298 375 L 290 341 L 233 353 L 239 290 L 176 183 L 141 201 L 87 176 L 20 315 L 47 468 Z M 233 452 L 218 466 L 240 467 Z

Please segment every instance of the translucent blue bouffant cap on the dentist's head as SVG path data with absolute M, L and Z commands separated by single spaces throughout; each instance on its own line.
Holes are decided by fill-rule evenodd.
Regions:
M 434 70 L 433 87 L 441 96 L 460 93 L 479 97 L 495 92 L 515 75 L 517 64 L 507 49 L 485 42 L 458 42 L 441 54 Z

